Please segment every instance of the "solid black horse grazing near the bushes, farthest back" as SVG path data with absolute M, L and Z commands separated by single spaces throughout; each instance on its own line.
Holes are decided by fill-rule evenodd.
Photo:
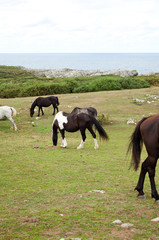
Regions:
M 38 116 L 40 116 L 40 110 L 42 112 L 42 115 L 44 115 L 44 111 L 42 109 L 42 107 L 49 107 L 50 105 L 53 106 L 54 108 L 54 112 L 53 115 L 55 114 L 55 109 L 58 112 L 58 107 L 59 106 L 59 100 L 58 97 L 54 97 L 54 96 L 50 96 L 50 97 L 38 97 L 37 99 L 35 99 L 35 101 L 32 103 L 31 108 L 30 108 L 30 117 L 32 117 L 34 115 L 34 108 L 36 106 L 39 107 L 38 110 Z

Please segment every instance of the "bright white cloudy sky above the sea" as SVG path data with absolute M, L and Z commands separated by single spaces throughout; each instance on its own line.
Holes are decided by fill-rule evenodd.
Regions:
M 159 53 L 159 0 L 0 0 L 0 53 Z

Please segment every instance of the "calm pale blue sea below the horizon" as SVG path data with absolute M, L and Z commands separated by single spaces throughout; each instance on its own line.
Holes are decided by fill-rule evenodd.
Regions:
M 0 53 L 0 65 L 29 69 L 159 72 L 159 53 Z

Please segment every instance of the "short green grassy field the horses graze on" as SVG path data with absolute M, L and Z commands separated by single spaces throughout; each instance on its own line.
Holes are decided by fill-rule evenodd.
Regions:
M 0 121 L 0 239 L 159 239 L 159 223 L 151 222 L 159 216 L 159 205 L 151 198 L 148 176 L 146 199 L 137 199 L 139 171 L 129 169 L 126 157 L 135 127 L 127 121 L 158 113 L 159 88 L 57 96 L 60 110 L 92 106 L 104 114 L 110 140 L 98 138 L 94 150 L 87 132 L 84 149 L 77 150 L 80 133 L 66 133 L 68 147 L 60 148 L 59 136 L 58 146 L 51 148 L 52 107 L 36 119 L 37 112 L 29 116 L 36 97 L 0 99 L 0 105 L 18 113 L 17 132 L 8 120 Z M 159 190 L 158 183 L 157 168 Z M 133 226 L 112 223 L 117 219 Z

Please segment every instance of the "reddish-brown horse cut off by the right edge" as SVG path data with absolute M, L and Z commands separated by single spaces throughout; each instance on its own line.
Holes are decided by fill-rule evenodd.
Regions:
M 142 143 L 145 144 L 148 157 L 142 163 L 140 177 L 135 190 L 138 197 L 144 198 L 143 186 L 146 173 L 149 174 L 151 196 L 159 203 L 159 195 L 155 184 L 155 168 L 159 157 L 159 114 L 143 118 L 138 122 L 128 147 L 132 151 L 132 164 L 137 170 L 140 163 Z

